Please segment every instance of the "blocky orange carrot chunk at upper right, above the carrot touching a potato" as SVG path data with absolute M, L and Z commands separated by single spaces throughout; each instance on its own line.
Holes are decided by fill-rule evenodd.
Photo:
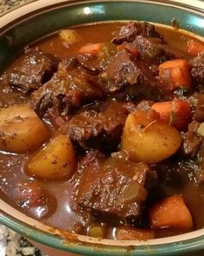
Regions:
M 163 62 L 159 65 L 159 79 L 170 90 L 191 86 L 190 66 L 184 59 Z

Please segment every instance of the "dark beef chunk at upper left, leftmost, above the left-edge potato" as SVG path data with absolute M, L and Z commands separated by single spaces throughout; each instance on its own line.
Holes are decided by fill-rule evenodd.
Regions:
M 25 49 L 21 61 L 9 71 L 8 82 L 22 93 L 30 93 L 48 82 L 58 62 L 54 56 L 43 54 L 39 49 Z

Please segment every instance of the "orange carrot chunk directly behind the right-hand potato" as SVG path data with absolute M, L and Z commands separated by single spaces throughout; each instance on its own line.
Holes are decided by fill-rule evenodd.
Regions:
M 191 120 L 191 108 L 188 102 L 175 99 L 172 102 L 157 102 L 151 106 L 160 114 L 160 119 L 173 125 L 179 131 L 185 130 Z

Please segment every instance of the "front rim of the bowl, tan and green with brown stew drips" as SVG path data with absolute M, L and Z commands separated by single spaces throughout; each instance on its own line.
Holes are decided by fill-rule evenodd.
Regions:
M 88 255 L 175 255 L 175 253 L 193 252 L 204 249 L 204 228 L 181 235 L 162 239 L 136 240 L 103 240 L 85 235 L 68 233 L 34 220 L 26 214 L 11 207 L 0 199 L 0 222 L 21 233 L 29 240 L 72 253 L 88 253 Z M 167 242 L 166 240 L 169 240 Z

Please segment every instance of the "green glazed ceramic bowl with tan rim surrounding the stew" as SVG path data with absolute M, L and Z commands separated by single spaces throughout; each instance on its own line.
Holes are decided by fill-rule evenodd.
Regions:
M 204 36 L 204 2 L 179 1 L 65 1 L 39 0 L 0 17 L 0 67 L 25 44 L 64 27 L 101 21 L 143 20 L 170 25 L 175 18 L 184 30 Z M 99 240 L 65 233 L 33 220 L 0 200 L 0 222 L 55 255 L 176 255 L 204 249 L 204 228 L 149 241 Z M 62 237 L 61 237 L 62 235 Z M 54 251 L 54 248 L 59 251 Z M 64 253 L 62 252 L 64 251 Z M 203 253 L 201 254 L 203 255 Z

